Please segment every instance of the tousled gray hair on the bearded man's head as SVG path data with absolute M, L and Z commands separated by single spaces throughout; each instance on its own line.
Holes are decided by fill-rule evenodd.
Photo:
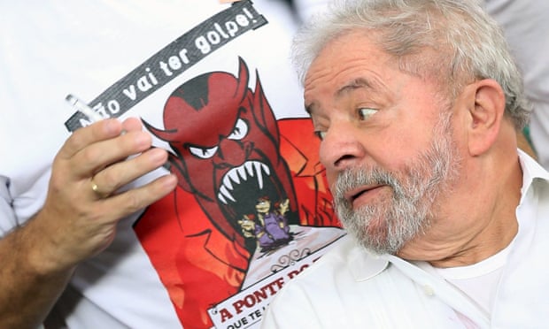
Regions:
M 357 30 L 371 36 L 401 70 L 435 77 L 452 99 L 473 80 L 496 80 L 506 96 L 506 115 L 519 130 L 527 125 L 530 104 L 522 74 L 500 27 L 478 0 L 336 1 L 294 38 L 292 59 L 302 83 L 328 42 Z

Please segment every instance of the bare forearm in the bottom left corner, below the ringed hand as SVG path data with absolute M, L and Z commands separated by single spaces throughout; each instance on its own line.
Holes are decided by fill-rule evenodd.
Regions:
M 56 268 L 40 222 L 0 240 L 0 327 L 35 328 L 66 287 L 73 268 Z

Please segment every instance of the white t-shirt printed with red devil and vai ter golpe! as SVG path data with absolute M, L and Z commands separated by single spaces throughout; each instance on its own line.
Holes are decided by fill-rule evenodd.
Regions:
M 50 163 L 71 134 L 64 125 L 74 113 L 69 93 L 104 115 L 143 119 L 174 161 L 205 164 L 181 176 L 173 194 L 122 219 L 112 245 L 78 267 L 53 312 L 68 327 L 252 325 L 287 279 L 342 236 L 316 145 L 303 134 L 310 123 L 288 61 L 296 22 L 285 2 L 52 0 L 3 2 L 0 11 L 0 235 L 43 204 Z M 230 90 L 239 94 L 228 96 Z M 186 105 L 167 106 L 173 97 Z M 235 134 L 210 124 L 234 125 Z M 176 157 L 180 144 L 157 137 L 166 125 L 193 132 L 184 138 L 197 149 L 228 151 L 233 163 L 222 172 L 212 165 L 215 153 Z M 212 136 L 219 144 L 200 144 Z M 237 202 L 222 203 L 219 177 L 233 169 L 250 170 L 249 184 L 260 173 L 263 189 L 242 183 L 230 195 Z M 215 189 L 215 203 L 203 208 L 186 184 L 208 177 L 200 184 Z M 245 200 L 264 194 L 274 207 L 283 201 L 274 199 L 290 199 L 290 212 L 287 231 L 259 242 L 242 236 L 238 218 L 228 214 L 253 214 Z

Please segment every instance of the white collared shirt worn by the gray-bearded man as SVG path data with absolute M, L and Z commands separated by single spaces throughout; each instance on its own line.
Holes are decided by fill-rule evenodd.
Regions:
M 542 328 L 549 314 L 549 172 L 519 150 L 522 198 L 488 314 L 445 279 L 345 237 L 287 283 L 262 328 Z

